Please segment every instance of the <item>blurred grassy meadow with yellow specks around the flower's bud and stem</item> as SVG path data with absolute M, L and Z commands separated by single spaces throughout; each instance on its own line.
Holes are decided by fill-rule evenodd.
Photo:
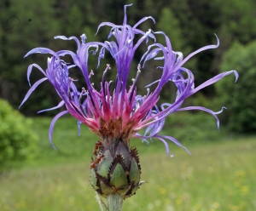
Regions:
M 56 124 L 49 145 L 48 118 L 34 120 L 40 137 L 38 157 L 0 179 L 0 210 L 100 210 L 90 186 L 90 152 L 97 140 L 85 127 L 77 136 L 75 121 Z M 124 210 L 254 211 L 256 210 L 256 138 L 188 142 L 186 151 L 170 144 L 137 145 L 142 180 Z

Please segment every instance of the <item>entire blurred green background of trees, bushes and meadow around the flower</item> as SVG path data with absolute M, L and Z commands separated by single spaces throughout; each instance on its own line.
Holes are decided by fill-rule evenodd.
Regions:
M 110 28 L 95 36 L 103 21 L 122 24 L 121 0 L 2 0 L 0 2 L 0 210 L 99 210 L 90 187 L 89 165 L 97 137 L 84 126 L 78 136 L 76 120 L 62 117 L 55 125 L 55 151 L 49 145 L 49 123 L 57 111 L 37 114 L 58 104 L 55 89 L 43 83 L 26 104 L 16 111 L 29 86 L 27 66 L 46 66 L 46 55 L 24 55 L 36 47 L 76 51 L 73 41 L 55 40 L 56 35 L 104 41 Z M 206 106 L 227 110 L 216 121 L 201 111 L 173 114 L 166 119 L 162 134 L 169 134 L 189 148 L 170 143 L 166 156 L 158 141 L 132 140 L 141 152 L 143 185 L 137 195 L 125 200 L 124 210 L 255 210 L 256 209 L 256 2 L 230 1 L 137 1 L 127 9 L 128 23 L 134 25 L 144 16 L 153 16 L 141 25 L 147 31 L 165 31 L 172 48 L 184 56 L 208 44 L 217 49 L 197 54 L 185 65 L 195 74 L 195 86 L 220 72 L 236 70 L 240 77 L 224 78 L 185 101 L 184 106 Z M 156 37 L 164 42 L 163 37 Z M 152 42 L 152 41 L 151 41 Z M 138 49 L 131 68 L 147 48 Z M 101 81 L 105 64 L 112 65 L 108 80 L 115 76 L 109 56 L 96 70 L 96 58 L 90 60 L 93 80 Z M 142 71 L 138 92 L 157 80 L 154 62 Z M 73 75 L 79 78 L 79 73 Z M 31 82 L 42 74 L 32 71 Z M 80 80 L 79 86 L 84 83 Z M 176 90 L 166 84 L 160 102 L 172 102 Z M 7 103 L 9 102 L 9 104 Z

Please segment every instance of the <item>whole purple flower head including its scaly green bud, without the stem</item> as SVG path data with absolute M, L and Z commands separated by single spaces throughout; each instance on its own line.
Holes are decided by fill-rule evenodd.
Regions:
M 57 36 L 55 38 L 74 40 L 78 46 L 77 52 L 73 53 L 69 50 L 54 52 L 49 48 L 34 48 L 26 54 L 26 56 L 35 53 L 51 54 L 52 57 L 47 60 L 47 69 L 45 71 L 36 64 L 28 67 L 28 81 L 32 67 L 37 67 L 44 77 L 32 85 L 21 105 L 40 83 L 49 80 L 49 83 L 53 85 L 60 96 L 61 102 L 58 106 L 44 111 L 57 109 L 61 106 L 66 106 L 67 108 L 66 111 L 61 111 L 56 115 L 50 124 L 50 143 L 53 145 L 51 134 L 55 121 L 67 113 L 77 118 L 79 124 L 86 124 L 91 131 L 100 137 L 100 140 L 96 142 L 95 158 L 91 161 L 90 173 L 91 184 L 102 197 L 109 197 L 115 194 L 120 195 L 122 198 L 130 197 L 143 183 L 140 182 L 141 168 L 137 150 L 130 147 L 131 138 L 138 137 L 146 141 L 152 138 L 161 140 L 166 146 L 166 152 L 169 155 L 169 147 L 166 140 L 172 140 L 182 147 L 183 145 L 172 136 L 160 135 L 160 131 L 165 124 L 165 118 L 176 111 L 202 110 L 212 114 L 218 123 L 216 115 L 221 111 L 214 112 L 201 106 L 182 108 L 183 101 L 201 88 L 205 88 L 231 73 L 235 74 L 236 79 L 238 77 L 236 71 L 227 71 L 212 77 L 195 88 L 193 73 L 183 67 L 184 63 L 203 50 L 217 48 L 218 43 L 217 45 L 208 45 L 200 48 L 183 59 L 182 53 L 172 50 L 171 42 L 164 32 L 151 30 L 144 32 L 138 29 L 138 26 L 145 20 L 154 21 L 152 17 L 145 17 L 138 21 L 135 26 L 129 26 L 126 18 L 126 7 L 123 25 L 117 26 L 113 23 L 104 22 L 98 27 L 99 30 L 102 26 L 110 26 L 111 30 L 108 38 L 114 37 L 115 42 L 86 43 L 86 36 L 82 35 L 80 43 L 77 37 Z M 157 43 L 155 35 L 164 36 L 166 44 Z M 135 37 L 138 37 L 138 39 L 135 39 Z M 130 83 L 128 76 L 131 70 L 131 62 L 137 48 L 142 43 L 147 43 L 148 39 L 152 39 L 154 43 L 149 45 L 147 52 L 143 54 L 137 66 L 137 76 Z M 91 83 L 90 79 L 94 73 L 88 67 L 89 55 L 94 55 L 97 52 L 99 52 L 98 67 L 105 53 L 108 52 L 115 61 L 117 72 L 115 81 L 106 81 L 108 71 L 113 71 L 107 65 L 102 73 L 100 90 L 96 90 Z M 73 64 L 61 59 L 65 55 L 71 56 Z M 146 87 L 148 94 L 142 96 L 137 94 L 137 82 L 145 62 L 152 59 L 163 61 L 163 66 L 159 67 L 161 77 L 154 82 L 156 83 L 156 88 L 150 90 L 149 87 L 153 83 L 148 84 Z M 84 88 L 80 90 L 76 87 L 76 80 L 69 76 L 69 71 L 73 67 L 77 67 L 84 76 Z M 176 99 L 172 103 L 157 105 L 161 89 L 169 82 L 174 83 L 177 87 Z M 113 88 L 110 88 L 111 85 Z M 142 128 L 145 128 L 145 133 L 139 134 Z

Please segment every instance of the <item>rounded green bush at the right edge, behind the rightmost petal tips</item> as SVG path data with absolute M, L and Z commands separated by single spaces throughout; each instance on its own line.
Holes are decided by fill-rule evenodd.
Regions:
M 236 68 L 239 79 L 224 78 L 216 84 L 218 100 L 228 109 L 223 120 L 236 132 L 255 132 L 256 130 L 256 42 L 243 46 L 234 43 L 224 54 L 221 71 Z

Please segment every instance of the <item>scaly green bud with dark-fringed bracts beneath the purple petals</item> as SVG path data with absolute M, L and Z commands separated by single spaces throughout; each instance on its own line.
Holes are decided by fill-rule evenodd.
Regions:
M 102 197 L 115 193 L 131 197 L 143 183 L 137 149 L 122 139 L 102 140 L 90 175 L 92 186 Z

